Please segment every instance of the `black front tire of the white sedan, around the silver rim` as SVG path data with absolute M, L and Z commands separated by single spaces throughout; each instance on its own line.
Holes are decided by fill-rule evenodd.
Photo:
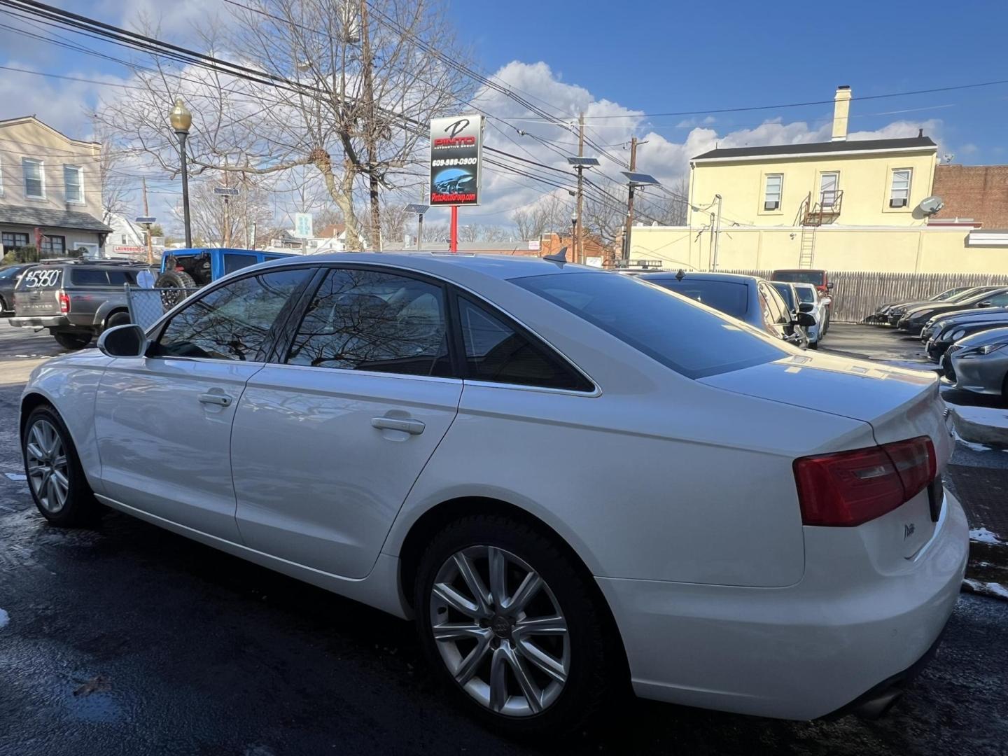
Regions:
M 51 498 L 51 496 L 46 497 L 44 484 L 42 480 L 39 480 L 37 469 L 34 471 L 35 477 L 32 477 L 33 466 L 30 464 L 29 459 L 34 460 L 35 455 L 29 453 L 28 445 L 29 443 L 33 444 L 37 450 L 39 445 L 36 443 L 36 436 L 33 435 L 33 429 L 40 421 L 47 423 L 47 426 L 53 429 L 54 434 L 58 437 L 61 445 L 62 455 L 60 457 L 64 459 L 62 466 L 58 462 L 50 465 L 50 468 L 59 471 L 67 481 L 66 502 L 58 508 L 46 505 L 46 498 Z M 88 525 L 98 519 L 101 515 L 102 507 L 95 500 L 95 495 L 88 485 L 88 480 L 84 477 L 84 470 L 81 467 L 81 460 L 77 456 L 74 440 L 71 438 L 70 431 L 64 424 L 62 418 L 48 404 L 40 404 L 28 415 L 28 419 L 24 423 L 24 430 L 21 433 L 21 457 L 24 459 L 24 473 L 28 476 L 28 490 L 31 492 L 31 498 L 45 519 L 59 527 Z M 50 475 L 49 477 L 53 476 Z M 44 476 L 43 479 L 47 480 Z

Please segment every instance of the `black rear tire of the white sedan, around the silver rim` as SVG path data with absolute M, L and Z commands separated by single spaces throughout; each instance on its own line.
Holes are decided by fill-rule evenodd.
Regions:
M 474 695 L 468 692 L 456 680 L 448 662 L 442 657 L 438 641 L 434 640 L 431 625 L 435 610 L 432 607 L 434 597 L 431 592 L 438 571 L 453 558 L 454 554 L 473 547 L 476 547 L 477 552 L 483 547 L 502 549 L 509 552 L 509 556 L 517 556 L 526 562 L 527 566 L 538 574 L 548 589 L 539 592 L 540 598 L 541 594 L 547 594 L 545 598 L 559 607 L 565 621 L 565 637 L 570 644 L 570 671 L 559 692 L 538 713 L 520 717 L 507 716 L 496 713 L 486 703 L 477 701 Z M 478 563 L 475 558 L 473 563 Z M 474 570 L 479 571 L 479 568 Z M 465 517 L 434 536 L 420 557 L 416 573 L 413 596 L 416 628 L 423 652 L 433 667 L 434 674 L 445 683 L 450 691 L 449 695 L 462 708 L 488 727 L 508 736 L 521 738 L 555 736 L 577 731 L 593 722 L 593 718 L 604 704 L 610 701 L 618 703 L 617 697 L 629 687 L 617 684 L 620 676 L 626 677 L 625 657 L 620 640 L 615 630 L 611 629 L 612 622 L 608 611 L 604 606 L 600 606 L 601 597 L 597 597 L 592 590 L 594 587 L 590 585 L 590 578 L 583 576 L 582 572 L 572 563 L 571 556 L 550 537 L 526 524 L 501 515 Z M 519 578 L 509 580 L 513 584 Z M 512 586 L 509 585 L 505 593 L 511 589 Z M 492 597 L 491 603 L 493 603 Z M 437 609 L 436 612 L 445 613 L 438 616 L 449 617 L 449 612 L 445 609 Z M 527 616 L 543 615 L 531 610 Z M 491 620 L 486 620 L 486 625 L 481 621 L 481 627 L 487 627 L 491 634 L 494 633 L 494 620 L 498 618 L 499 613 Z M 475 646 L 476 641 L 473 643 Z M 490 661 L 496 653 L 495 649 L 506 643 L 512 654 L 516 658 L 520 657 L 527 675 L 540 673 L 540 670 L 535 669 L 534 665 L 527 661 L 528 656 L 518 649 L 519 641 L 510 637 L 501 639 L 495 636 L 490 643 L 497 645 L 491 646 L 491 650 L 488 651 L 490 656 L 486 657 L 487 666 L 483 667 L 481 663 L 481 669 L 489 670 Z M 513 667 L 509 668 L 507 674 L 510 675 L 508 684 L 511 690 L 520 689 L 516 686 L 517 678 L 513 676 Z M 477 676 L 482 678 L 486 674 Z M 489 688 L 489 683 L 487 687 Z M 507 692 L 505 698 L 508 701 L 513 699 Z

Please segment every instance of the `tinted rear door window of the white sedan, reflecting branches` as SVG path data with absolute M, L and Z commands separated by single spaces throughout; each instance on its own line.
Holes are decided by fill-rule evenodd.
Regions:
M 287 355 L 290 365 L 451 375 L 440 286 L 373 270 L 331 270 Z

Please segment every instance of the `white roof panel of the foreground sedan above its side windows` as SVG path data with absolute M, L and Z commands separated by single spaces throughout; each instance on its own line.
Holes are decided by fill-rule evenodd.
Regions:
M 448 276 L 451 276 L 453 271 L 468 270 L 504 280 L 555 273 L 607 272 L 601 268 L 577 265 L 570 262 L 558 263 L 545 260 L 541 257 L 474 255 L 467 253 L 452 254 L 450 252 L 413 252 L 407 254 L 390 252 L 337 252 L 327 255 L 293 255 L 292 258 L 284 257 L 276 260 L 267 260 L 262 263 L 262 266 L 289 265 L 292 261 L 316 265 L 334 262 L 395 265 L 418 272 Z

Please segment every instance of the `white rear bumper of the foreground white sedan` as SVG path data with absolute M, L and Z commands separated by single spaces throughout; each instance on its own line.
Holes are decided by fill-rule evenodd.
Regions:
M 598 579 L 635 691 L 739 714 L 810 720 L 905 674 L 940 635 L 969 551 L 954 496 L 900 572 L 853 563 L 836 528 L 805 528 L 804 578 L 780 589 Z M 857 537 L 851 528 L 851 537 Z M 859 561 L 866 561 L 861 558 Z

